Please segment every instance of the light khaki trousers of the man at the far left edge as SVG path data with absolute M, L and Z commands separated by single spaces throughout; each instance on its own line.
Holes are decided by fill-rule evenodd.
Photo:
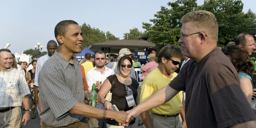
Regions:
M 0 128 L 19 128 L 21 124 L 21 109 L 15 107 L 6 112 L 0 112 Z

